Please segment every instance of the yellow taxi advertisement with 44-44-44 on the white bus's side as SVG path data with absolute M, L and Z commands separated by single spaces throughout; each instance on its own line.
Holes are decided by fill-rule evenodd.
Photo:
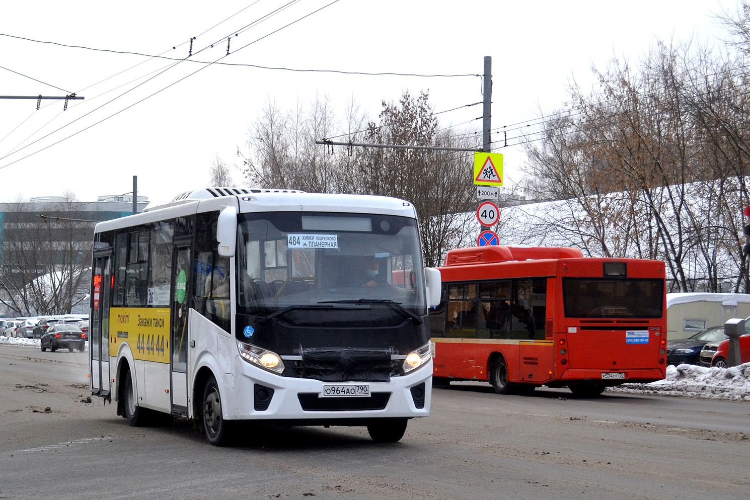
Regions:
M 135 359 L 169 363 L 169 314 L 166 307 L 113 307 L 110 352 L 127 343 Z

